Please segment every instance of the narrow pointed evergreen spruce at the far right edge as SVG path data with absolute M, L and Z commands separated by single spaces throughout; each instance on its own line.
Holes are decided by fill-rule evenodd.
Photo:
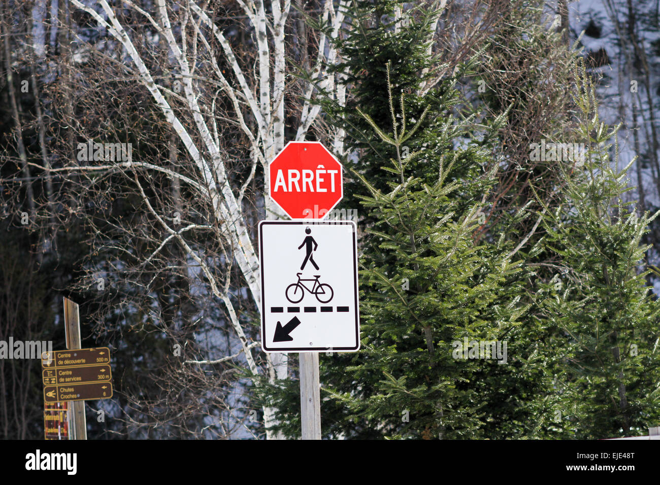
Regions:
M 632 162 L 618 170 L 617 150 L 611 160 L 608 141 L 618 127 L 601 123 L 583 63 L 574 102 L 584 170 L 564 170 L 564 204 L 544 220 L 556 261 L 545 311 L 567 342 L 556 378 L 561 426 L 583 439 L 646 434 L 660 420 L 660 304 L 640 271 L 649 249 L 640 240 L 657 213 L 638 217 L 634 202 L 623 200 Z

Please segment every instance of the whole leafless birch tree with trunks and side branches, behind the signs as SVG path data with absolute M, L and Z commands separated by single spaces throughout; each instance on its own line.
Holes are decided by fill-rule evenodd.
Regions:
M 88 164 L 70 160 L 65 166 L 39 168 L 50 174 L 80 174 L 90 181 L 109 173 L 132 179 L 135 194 L 147 208 L 145 218 L 162 233 L 160 244 L 143 263 L 153 261 L 167 245 L 178 245 L 185 261 L 199 268 L 199 278 L 224 305 L 249 372 L 252 375 L 265 372 L 271 382 L 286 377 L 285 354 L 269 354 L 265 366 L 259 366 L 255 355 L 257 342 L 246 332 L 246 322 L 241 319 L 232 295 L 246 290 L 253 309 L 259 310 L 259 260 L 249 228 L 259 211 L 269 218 L 283 216 L 269 199 L 263 183 L 268 179 L 269 161 L 286 141 L 303 140 L 314 129 L 319 106 L 313 99 L 318 88 L 336 92 L 336 101 L 344 102 L 345 91 L 335 89 L 335 75 L 325 72 L 325 66 L 337 57 L 330 40 L 339 35 L 344 2 L 333 4 L 331 0 L 321 0 L 304 7 L 306 14 L 315 16 L 326 28 L 320 32 L 307 30 L 306 36 L 297 38 L 293 45 L 291 38 L 298 32 L 300 22 L 296 19 L 300 16 L 294 15 L 291 0 L 238 0 L 235 4 L 125 0 L 112 6 L 106 0 L 68 1 L 72 15 L 82 12 L 101 34 L 107 32 L 104 48 L 116 48 L 102 54 L 114 57 L 115 63 L 123 65 L 131 82 L 149 93 L 158 116 L 154 121 L 170 127 L 176 144 L 183 147 L 185 160 L 176 166 L 162 160 L 100 163 L 89 160 Z M 246 20 L 244 44 L 236 44 L 235 36 L 218 24 L 217 19 L 223 13 L 234 16 L 238 13 Z M 139 22 L 146 28 L 140 29 Z M 81 32 L 76 33 L 74 49 L 101 49 L 98 41 L 86 42 Z M 162 49 L 161 57 L 154 54 L 156 49 Z M 294 55 L 308 59 L 314 82 L 302 82 L 292 76 L 294 71 L 288 63 Z M 154 64 L 154 59 L 161 58 L 166 65 Z M 242 178 L 232 172 L 230 153 L 236 150 L 224 140 L 225 133 L 231 130 L 244 141 L 242 152 L 249 154 L 247 174 Z M 315 133 L 317 138 L 322 135 Z M 338 132 L 327 140 L 339 154 L 343 149 L 341 136 Z M 209 222 L 174 224 L 172 217 L 154 207 L 145 184 L 149 174 L 164 176 L 194 193 L 200 204 L 211 208 Z M 250 193 L 255 183 L 259 184 L 259 195 L 248 201 L 246 193 Z M 203 248 L 190 236 L 199 231 L 214 232 L 226 250 L 226 258 L 238 268 L 240 278 L 232 279 L 229 273 L 218 273 L 213 268 Z M 209 362 L 212 360 L 195 360 L 194 365 Z M 275 409 L 264 408 L 263 413 L 266 427 L 277 421 Z M 269 433 L 269 437 L 274 435 Z

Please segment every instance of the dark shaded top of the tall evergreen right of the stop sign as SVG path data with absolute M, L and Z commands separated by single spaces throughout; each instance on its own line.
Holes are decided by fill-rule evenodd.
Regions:
M 378 126 L 389 125 L 387 105 L 388 89 L 391 88 L 396 100 L 401 93 L 405 93 L 407 115 L 413 123 L 420 119 L 424 110 L 428 111 L 428 117 L 418 127 L 415 137 L 408 139 L 400 149 L 403 157 L 422 148 L 425 150 L 424 156 L 411 160 L 410 168 L 424 181 L 432 183 L 438 174 L 440 154 L 453 149 L 451 141 L 441 146 L 437 133 L 447 122 L 453 121 L 451 110 L 459 104 L 455 79 L 461 73 L 470 71 L 471 65 L 461 66 L 453 76 L 437 82 L 422 96 L 422 88 L 428 82 L 435 81 L 438 71 L 445 67 L 438 56 L 428 51 L 433 39 L 431 30 L 434 20 L 442 13 L 438 2 L 416 2 L 413 7 L 413 3 L 401 0 L 353 0 L 347 10 L 351 28 L 345 30 L 345 35 L 339 36 L 335 42 L 335 47 L 341 52 L 341 61 L 327 66 L 329 72 L 339 72 L 345 79 L 348 86 L 346 106 L 334 102 L 330 93 L 321 101 L 329 122 L 346 132 L 345 152 L 357 155 L 357 159 L 353 157 L 343 162 L 345 166 L 352 166 L 377 189 L 387 188 L 389 178 L 381 165 L 383 160 L 396 158 L 395 148 L 378 137 L 360 112 L 368 115 Z M 389 87 L 386 76 L 388 63 L 392 81 Z M 459 157 L 475 156 L 467 150 L 457 153 Z M 478 166 L 457 160 L 451 178 L 477 179 L 479 175 Z M 473 191 L 472 195 L 477 197 L 482 188 L 465 185 L 464 190 Z M 366 186 L 358 177 L 347 171 L 342 207 L 358 209 L 358 195 L 367 193 Z

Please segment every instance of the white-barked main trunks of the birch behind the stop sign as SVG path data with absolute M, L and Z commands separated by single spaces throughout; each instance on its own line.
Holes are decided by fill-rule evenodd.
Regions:
M 206 196 L 211 200 L 216 219 L 222 221 L 222 237 L 231 248 L 232 255 L 236 259 L 236 263 L 255 302 L 255 306 L 259 311 L 261 311 L 259 259 L 253 242 L 249 237 L 248 222 L 246 220 L 246 214 L 244 214 L 244 210 L 242 209 L 242 197 L 249 179 L 242 187 L 232 187 L 226 173 L 226 160 L 224 160 L 222 151 L 218 145 L 219 135 L 215 120 L 210 127 L 209 117 L 206 115 L 211 112 L 211 102 L 209 102 L 210 100 L 201 98 L 201 92 L 198 89 L 198 84 L 193 74 L 195 71 L 195 52 L 197 49 L 203 46 L 209 51 L 212 50 L 211 42 L 209 42 L 210 39 L 204 37 L 201 29 L 203 25 L 205 26 L 205 31 L 207 28 L 211 30 L 213 38 L 220 45 L 221 51 L 214 54 L 218 56 L 222 55 L 224 61 L 230 65 L 236 79 L 236 83 L 232 85 L 222 74 L 220 67 L 218 67 L 214 59 L 212 61 L 212 67 L 217 78 L 215 82 L 222 86 L 222 92 L 227 96 L 231 106 L 233 106 L 236 121 L 248 138 L 252 150 L 257 154 L 257 160 L 261 163 L 266 176 L 265 179 L 267 180 L 268 163 L 275 158 L 277 153 L 285 145 L 284 124 L 286 111 L 284 97 L 287 87 L 285 33 L 291 3 L 290 0 L 271 0 L 269 1 L 269 7 L 271 8 L 267 9 L 264 1 L 237 0 L 238 5 L 242 7 L 244 13 L 255 26 L 256 65 L 251 72 L 248 72 L 247 69 L 244 72 L 236 53 L 232 49 L 232 45 L 225 38 L 222 30 L 217 28 L 213 20 L 209 18 L 201 2 L 197 3 L 193 0 L 178 2 L 178 15 L 181 15 L 184 20 L 182 20 L 180 25 L 173 26 L 172 20 L 170 20 L 170 12 L 168 11 L 168 3 L 165 0 L 156 0 L 156 18 L 151 13 L 143 10 L 135 1 L 123 1 L 124 7 L 133 9 L 144 16 L 158 30 L 159 34 L 165 38 L 170 51 L 169 54 L 174 59 L 174 65 L 181 74 L 183 99 L 185 99 L 187 113 L 193 120 L 192 125 L 190 123 L 184 125 L 186 123 L 185 119 L 182 118 L 182 115 L 176 113 L 168 103 L 164 96 L 165 88 L 159 86 L 154 81 L 147 64 L 129 37 L 125 28 L 126 26 L 123 26 L 119 22 L 113 8 L 108 5 L 108 1 L 98 0 L 98 5 L 100 5 L 104 14 L 102 15 L 93 6 L 84 5 L 79 0 L 69 0 L 69 3 L 78 9 L 82 9 L 92 15 L 99 26 L 108 29 L 108 32 L 121 43 L 137 73 L 139 73 L 139 82 L 149 90 L 154 104 L 160 108 L 164 119 L 172 125 L 174 133 L 176 133 L 183 146 L 185 146 L 189 158 L 197 168 L 198 178 L 194 183 L 197 187 L 203 187 Z M 326 0 L 324 3 L 321 15 L 323 15 L 323 18 L 328 18 L 332 22 L 332 36 L 339 34 L 339 28 L 343 22 L 343 12 L 341 9 L 346 3 L 347 0 L 342 0 L 337 11 L 335 11 L 331 0 Z M 169 6 L 173 7 L 173 5 Z M 271 13 L 267 15 L 268 11 Z M 182 25 L 184 23 L 187 28 L 184 28 Z M 186 34 L 186 32 L 190 32 L 191 28 L 195 32 L 192 40 Z M 321 79 L 321 76 L 323 76 L 323 63 L 333 63 L 337 57 L 336 50 L 331 46 L 325 34 L 320 35 L 319 41 L 319 51 L 314 69 L 314 76 L 317 79 Z M 269 46 L 273 46 L 273 48 L 271 49 Z M 212 55 L 211 59 L 215 55 Z M 321 85 L 326 89 L 333 89 L 336 86 L 335 79 L 333 77 L 327 77 L 321 81 Z M 313 94 L 312 86 L 304 94 L 306 95 L 306 102 L 302 107 L 300 123 L 296 131 L 296 140 L 304 139 L 306 132 L 319 116 L 319 107 L 313 106 L 308 100 Z M 345 102 L 345 88 L 340 90 L 337 99 Z M 246 113 L 244 112 L 245 106 L 248 108 L 247 114 L 249 115 L 249 119 L 246 119 Z M 252 129 L 250 128 L 251 126 L 253 127 Z M 195 140 L 199 140 L 199 142 Z M 342 140 L 343 134 L 335 137 L 335 141 L 333 142 L 333 148 L 339 152 L 341 152 L 343 146 Z M 197 146 L 198 143 L 200 146 Z M 255 172 L 254 168 L 255 166 L 253 165 L 249 178 L 253 176 Z M 166 172 L 162 169 L 160 171 Z M 182 181 L 186 179 L 182 176 L 176 177 Z M 267 187 L 262 187 L 267 217 L 281 218 L 284 216 L 282 210 L 275 205 L 267 192 Z M 145 203 L 150 207 L 146 195 L 144 199 Z M 172 228 L 169 228 L 166 220 L 156 214 L 156 211 L 151 210 L 151 212 L 152 216 L 170 233 L 168 238 L 176 238 L 189 256 L 201 265 L 203 273 L 209 279 L 213 294 L 222 300 L 226 306 L 228 315 L 230 315 L 230 323 L 236 332 L 236 336 L 242 342 L 242 352 L 246 356 L 249 369 L 255 374 L 259 373 L 260 371 L 255 364 L 252 354 L 254 342 L 249 342 L 246 337 L 242 324 L 228 296 L 228 288 L 223 289 L 215 281 L 213 273 L 205 266 L 206 263 L 203 261 L 203 258 L 199 257 L 191 245 L 185 241 L 182 231 L 174 231 Z M 287 375 L 286 354 L 269 354 L 267 356 L 267 369 L 265 372 L 267 372 L 271 382 L 275 382 L 275 379 L 285 378 Z M 277 422 L 275 409 L 264 408 L 263 412 L 266 426 L 271 426 Z M 276 436 L 269 433 L 268 437 L 273 438 Z

